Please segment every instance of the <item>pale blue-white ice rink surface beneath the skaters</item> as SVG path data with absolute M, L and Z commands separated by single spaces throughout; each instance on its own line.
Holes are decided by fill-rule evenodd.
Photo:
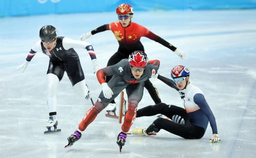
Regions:
M 149 59 L 161 61 L 159 74 L 170 78 L 178 64 L 190 70 L 190 82 L 203 90 L 221 139 L 210 144 L 210 125 L 203 138 L 187 140 L 161 130 L 156 136 L 128 136 L 119 154 L 118 120 L 102 111 L 71 148 L 67 137 L 77 129 L 90 101 L 76 96 L 64 74 L 57 93 L 58 128 L 44 135 L 49 58 L 37 53 L 24 73 L 16 71 L 39 40 L 42 26 L 51 24 L 59 36 L 79 40 L 98 26 L 117 21 L 114 12 L 0 18 L 0 157 L 1 158 L 253 158 L 256 154 L 256 10 L 135 12 L 133 22 L 147 27 L 187 53 L 184 60 L 157 42 L 142 38 Z M 111 33 L 92 35 L 101 66 L 118 48 Z M 96 101 L 101 86 L 88 52 L 76 49 L 86 82 Z M 181 106 L 178 92 L 151 79 L 166 104 Z M 116 98 L 119 102 L 119 97 Z M 147 90 L 138 108 L 154 104 Z M 137 118 L 132 128 L 148 127 L 156 116 Z

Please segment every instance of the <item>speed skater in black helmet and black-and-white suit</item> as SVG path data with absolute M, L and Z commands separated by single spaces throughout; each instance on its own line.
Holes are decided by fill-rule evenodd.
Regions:
M 50 58 L 47 70 L 47 106 L 50 118 L 46 127 L 52 127 L 57 124 L 57 86 L 65 71 L 77 94 L 90 99 L 83 69 L 78 54 L 73 48 L 84 48 L 88 51 L 95 72 L 100 69 L 100 66 L 97 63 L 93 47 L 88 42 L 57 36 L 56 28 L 51 25 L 43 26 L 39 31 L 39 36 L 41 40 L 36 42 L 36 45 L 28 53 L 25 62 L 17 70 L 22 69 L 24 72 L 36 52 L 43 52 Z

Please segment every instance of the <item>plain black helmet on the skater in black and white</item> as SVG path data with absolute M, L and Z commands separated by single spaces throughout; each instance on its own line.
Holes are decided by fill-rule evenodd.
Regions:
M 57 30 L 51 25 L 43 26 L 39 31 L 39 37 L 43 41 L 50 41 L 57 37 Z

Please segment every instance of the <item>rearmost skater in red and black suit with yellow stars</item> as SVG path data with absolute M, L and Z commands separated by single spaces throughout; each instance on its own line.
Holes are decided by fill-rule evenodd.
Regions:
M 183 52 L 182 50 L 174 47 L 169 42 L 154 34 L 153 32 L 149 31 L 144 26 L 132 22 L 134 12 L 133 7 L 131 5 L 126 3 L 119 5 L 116 8 L 116 14 L 118 15 L 119 21 L 114 21 L 110 24 L 104 24 L 90 31 L 89 33 L 84 33 L 83 35 L 81 35 L 81 40 L 85 40 L 89 38 L 91 35 L 95 35 L 96 33 L 108 30 L 112 31 L 116 40 L 119 43 L 119 48 L 117 52 L 110 57 L 107 66 L 114 65 L 122 59 L 128 59 L 130 53 L 135 50 L 145 51 L 142 43 L 140 42 L 140 38 L 142 37 L 160 43 L 172 52 L 175 52 L 175 54 L 177 54 L 178 57 L 180 57 L 181 59 L 185 57 L 185 52 Z M 110 79 L 111 75 L 106 77 L 107 82 Z M 144 86 L 148 90 L 155 104 L 161 103 L 161 99 L 156 87 L 149 80 L 145 81 Z M 112 101 L 107 106 L 106 111 L 115 111 L 115 109 L 116 105 L 114 97 L 112 97 Z

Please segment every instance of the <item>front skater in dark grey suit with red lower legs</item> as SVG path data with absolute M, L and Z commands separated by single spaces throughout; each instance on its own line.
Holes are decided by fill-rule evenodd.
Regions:
M 117 64 L 107 66 L 97 72 L 97 79 L 102 85 L 102 92 L 96 103 L 86 113 L 76 130 L 68 137 L 69 145 L 81 138 L 81 132 L 92 123 L 97 114 L 100 113 L 110 101 L 119 93 L 126 89 L 128 96 L 128 110 L 126 112 L 124 123 L 119 133 L 117 144 L 123 146 L 126 141 L 126 133 L 130 130 L 136 118 L 137 106 L 142 99 L 145 81 L 156 74 L 160 65 L 159 60 L 147 61 L 147 55 L 143 51 L 134 51 L 128 59 L 123 59 Z M 106 83 L 105 77 L 113 75 L 111 80 Z

